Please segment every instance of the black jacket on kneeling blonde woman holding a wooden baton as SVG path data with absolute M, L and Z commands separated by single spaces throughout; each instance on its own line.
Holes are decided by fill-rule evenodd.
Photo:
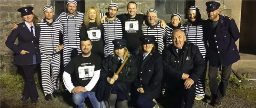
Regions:
M 112 78 L 114 73 L 119 69 L 119 60 L 116 56 L 108 55 L 108 57 L 104 58 L 102 61 L 100 78 L 101 81 L 107 82 L 107 77 Z M 131 55 L 121 72 L 119 73 L 119 77 L 117 81 L 122 82 L 126 85 L 127 92 L 130 92 L 130 86 L 132 82 L 135 80 L 137 76 L 137 67 L 135 57 Z

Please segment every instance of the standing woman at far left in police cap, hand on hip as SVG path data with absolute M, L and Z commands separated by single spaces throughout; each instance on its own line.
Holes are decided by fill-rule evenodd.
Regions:
M 40 27 L 38 18 L 33 14 L 31 6 L 18 9 L 21 13 L 23 23 L 13 30 L 6 40 L 6 46 L 14 52 L 13 63 L 20 66 L 24 72 L 24 90 L 20 102 L 26 102 L 29 97 L 33 105 L 38 102 L 38 91 L 36 89 L 34 72 L 36 64 L 41 63 L 39 50 Z M 16 38 L 19 43 L 14 44 Z

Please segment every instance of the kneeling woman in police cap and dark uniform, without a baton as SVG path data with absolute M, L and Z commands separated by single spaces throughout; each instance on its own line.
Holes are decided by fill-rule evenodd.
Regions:
M 155 39 L 155 36 L 141 36 L 142 53 L 136 55 L 138 76 L 134 85 L 137 88 L 137 105 L 140 108 L 159 108 L 155 98 L 161 92 L 163 58 L 155 51 Z

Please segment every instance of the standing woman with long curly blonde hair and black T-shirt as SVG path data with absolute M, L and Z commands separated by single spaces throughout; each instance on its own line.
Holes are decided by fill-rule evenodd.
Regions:
M 89 37 L 94 44 L 93 53 L 97 53 L 104 58 L 103 46 L 103 26 L 100 23 L 100 12 L 96 7 L 90 7 L 84 15 L 84 23 L 80 30 L 80 38 Z

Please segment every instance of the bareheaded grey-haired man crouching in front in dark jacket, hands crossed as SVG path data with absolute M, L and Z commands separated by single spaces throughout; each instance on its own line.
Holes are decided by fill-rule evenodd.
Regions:
M 198 47 L 185 40 L 184 31 L 176 29 L 172 32 L 173 44 L 163 50 L 163 70 L 169 87 L 166 88 L 169 99 L 165 100 L 169 100 L 169 108 L 192 108 L 195 84 L 205 67 Z

